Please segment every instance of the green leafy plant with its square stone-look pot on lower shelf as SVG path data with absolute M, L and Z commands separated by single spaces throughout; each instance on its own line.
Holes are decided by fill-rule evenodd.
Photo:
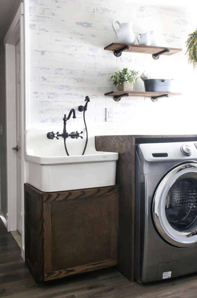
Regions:
M 118 70 L 111 75 L 111 79 L 118 86 L 119 91 L 133 91 L 133 83 L 137 82 L 138 78 L 139 72 L 128 70 L 128 68 L 123 68 L 122 71 Z

